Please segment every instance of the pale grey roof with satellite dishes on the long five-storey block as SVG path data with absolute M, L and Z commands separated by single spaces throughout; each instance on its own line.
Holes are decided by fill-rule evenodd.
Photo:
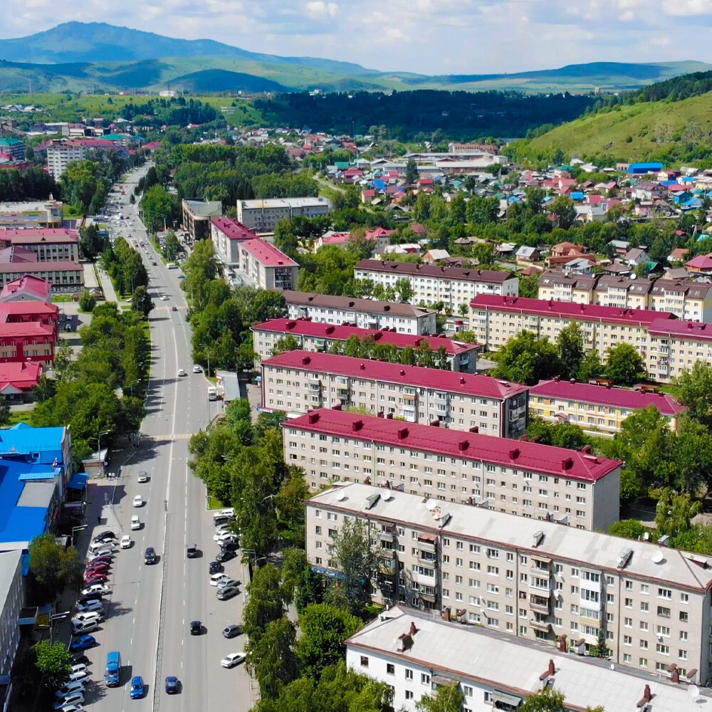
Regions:
M 304 419 L 308 417 L 308 414 L 303 416 Z M 286 421 L 283 426 L 289 428 L 294 422 L 294 420 Z M 399 425 L 404 424 L 399 423 Z M 413 426 L 408 424 L 408 427 Z M 355 433 L 350 434 L 350 437 L 353 436 Z M 488 441 L 499 440 L 491 436 L 483 437 L 487 437 Z M 509 443 L 510 446 L 519 445 L 511 440 L 503 440 L 503 442 Z M 382 496 L 385 492 L 390 495 L 388 499 Z M 375 503 L 372 502 L 373 495 L 379 496 Z M 436 520 L 431 512 L 432 507 L 427 506 L 428 500 L 422 495 L 350 483 L 315 494 L 306 501 L 306 506 L 328 507 L 347 515 L 359 514 L 372 520 L 406 523 L 426 533 L 483 539 L 491 543 L 508 545 L 523 554 L 567 560 L 575 562 L 576 565 L 592 562 L 595 563 L 597 570 L 610 571 L 616 575 L 622 573 L 624 576 L 639 577 L 644 581 L 674 582 L 676 586 L 701 592 L 707 591 L 712 586 L 712 557 L 709 556 L 660 547 L 646 541 L 623 539 L 553 522 L 495 512 L 468 504 L 440 500 L 436 503 L 441 508 L 441 515 L 449 515 L 449 519 Z M 446 523 L 443 525 L 444 521 Z M 538 544 L 534 545 L 534 535 L 538 533 L 543 537 L 538 536 L 536 539 Z M 627 556 L 623 559 L 624 553 Z M 657 553 L 663 553 L 663 556 L 658 557 Z M 552 649 L 547 648 L 547 650 Z

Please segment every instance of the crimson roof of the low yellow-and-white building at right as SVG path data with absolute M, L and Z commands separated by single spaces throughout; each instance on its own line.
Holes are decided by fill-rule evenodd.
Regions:
M 615 406 L 637 410 L 654 405 L 664 415 L 676 415 L 685 410 L 684 405 L 666 393 L 645 393 L 626 388 L 609 388 L 592 383 L 570 382 L 560 379 L 540 381 L 530 387 L 532 396 L 561 398 L 565 400 Z

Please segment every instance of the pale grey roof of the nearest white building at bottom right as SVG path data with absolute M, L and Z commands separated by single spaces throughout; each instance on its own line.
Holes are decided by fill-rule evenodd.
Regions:
M 412 631 L 407 648 L 399 651 L 399 638 Z M 516 696 L 541 689 L 542 676 L 550 671 L 553 689 L 564 693 L 565 704 L 577 709 L 600 706 L 606 712 L 637 710 L 646 685 L 652 693 L 655 712 L 692 712 L 700 708 L 698 697 L 685 685 L 671 684 L 609 661 L 562 653 L 555 646 L 478 626 L 464 626 L 431 617 L 418 609 L 396 605 L 366 624 L 345 642 L 347 648 L 375 651 L 435 673 L 444 672 L 461 682 L 476 681 Z M 515 663 L 515 664 L 513 664 Z M 614 669 L 612 669 L 612 667 Z M 708 700 L 712 703 L 712 699 Z

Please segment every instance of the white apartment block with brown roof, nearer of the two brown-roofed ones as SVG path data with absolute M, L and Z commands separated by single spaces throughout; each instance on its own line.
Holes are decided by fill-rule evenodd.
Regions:
M 395 329 L 399 334 L 434 334 L 434 309 L 376 299 L 288 291 L 284 293 L 290 319 L 320 324 L 354 324 L 360 329 Z

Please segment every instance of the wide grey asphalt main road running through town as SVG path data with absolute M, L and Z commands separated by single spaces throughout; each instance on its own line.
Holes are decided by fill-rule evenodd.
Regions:
M 243 593 L 226 602 L 217 600 L 216 588 L 209 585 L 208 564 L 218 547 L 212 537 L 212 515 L 206 511 L 205 488 L 189 471 L 189 437 L 215 417 L 220 402 L 209 402 L 208 382 L 203 374 L 192 373 L 190 327 L 185 320 L 186 303 L 179 288 L 179 270 L 168 270 L 155 253 L 137 217 L 136 206 L 128 196 L 139 169 L 125 183 L 120 197 L 125 223 L 117 234 L 129 236 L 145 245 L 150 292 L 155 308 L 150 314 L 152 365 L 147 417 L 142 424 L 141 446 L 122 466 L 121 476 L 108 491 L 103 507 L 103 525 L 89 522 L 94 533 L 110 528 L 120 538 L 130 534 L 129 550 L 119 550 L 109 580 L 108 614 L 95 633 L 99 645 L 88 651 L 92 660 L 92 684 L 87 688 L 85 706 L 101 712 L 125 709 L 143 712 L 199 712 L 209 709 L 248 710 L 253 691 L 244 666 L 224 669 L 219 661 L 229 652 L 241 651 L 244 637 L 225 639 L 226 625 L 241 621 Z M 152 266 L 152 261 L 157 266 Z M 161 300 L 163 295 L 168 300 Z M 172 311 L 177 306 L 177 312 Z M 187 372 L 178 377 L 178 370 Z M 145 470 L 150 479 L 137 482 Z M 100 490 L 100 491 L 101 491 Z M 145 503 L 134 508 L 140 494 Z M 132 515 L 139 515 L 142 529 L 130 530 Z M 88 541 L 88 536 L 84 538 Z M 185 548 L 198 545 L 201 556 L 187 559 Z M 145 548 L 152 546 L 159 555 L 155 565 L 145 565 Z M 242 580 L 239 559 L 226 564 L 226 572 Z M 189 634 L 189 623 L 199 619 L 204 625 L 200 636 Z M 108 689 L 103 681 L 106 655 L 118 650 L 122 656 L 119 688 Z M 145 697 L 131 700 L 132 676 L 141 675 Z M 175 675 L 179 694 L 164 691 L 164 679 Z M 158 684 L 157 684 L 158 682 Z

